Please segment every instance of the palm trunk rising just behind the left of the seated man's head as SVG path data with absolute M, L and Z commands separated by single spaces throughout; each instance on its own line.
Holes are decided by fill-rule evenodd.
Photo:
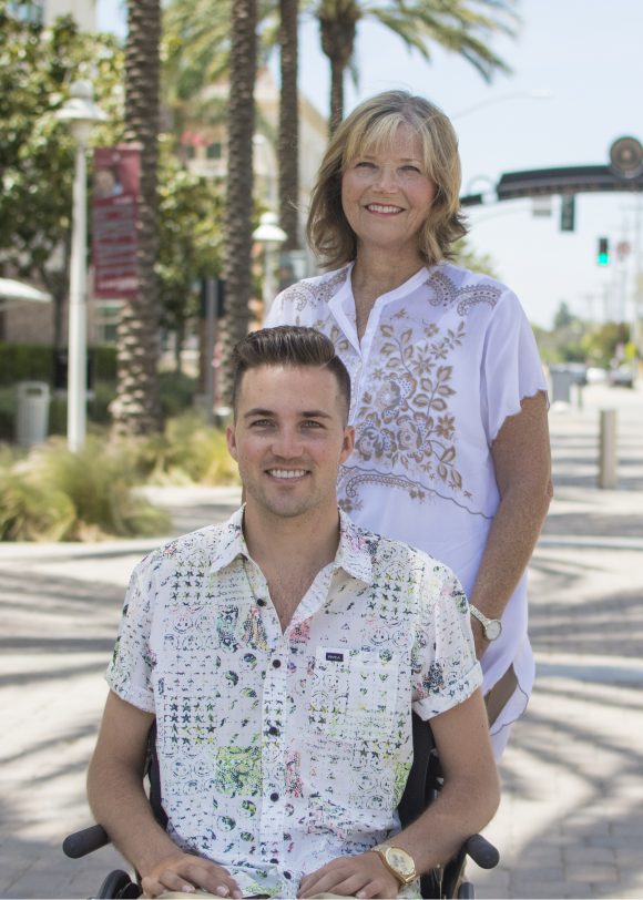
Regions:
M 257 68 L 256 0 L 233 0 L 229 58 L 225 228 L 225 337 L 221 398 L 231 399 L 231 356 L 248 331 L 253 245 L 254 86 Z

